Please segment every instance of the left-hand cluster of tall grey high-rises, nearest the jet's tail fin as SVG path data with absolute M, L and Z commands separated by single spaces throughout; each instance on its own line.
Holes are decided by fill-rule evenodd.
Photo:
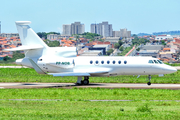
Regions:
M 80 22 L 74 22 L 69 25 L 63 25 L 63 35 L 82 34 L 85 32 L 85 25 Z

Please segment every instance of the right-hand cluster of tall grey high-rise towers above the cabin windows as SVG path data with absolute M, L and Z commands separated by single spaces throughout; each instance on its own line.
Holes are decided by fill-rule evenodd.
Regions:
M 112 24 L 108 24 L 108 22 L 91 24 L 91 33 L 96 33 L 103 37 L 112 37 Z

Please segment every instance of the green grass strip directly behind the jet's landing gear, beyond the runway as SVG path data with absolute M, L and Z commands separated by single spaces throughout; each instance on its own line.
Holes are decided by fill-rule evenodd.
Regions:
M 75 83 L 77 77 L 53 77 L 40 75 L 30 68 L 1 68 L 0 82 L 64 82 Z M 90 77 L 90 83 L 146 83 L 147 76 L 122 75 L 112 77 Z M 180 71 L 164 77 L 152 76 L 152 83 L 180 83 Z

